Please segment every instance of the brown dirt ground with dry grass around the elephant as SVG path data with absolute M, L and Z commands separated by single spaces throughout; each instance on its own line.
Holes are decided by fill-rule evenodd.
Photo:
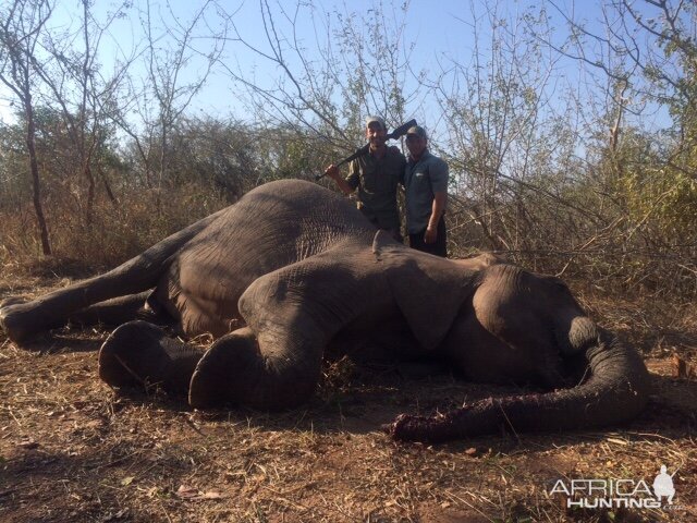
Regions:
M 68 282 L 5 275 L 0 299 Z M 379 427 L 518 389 L 341 360 L 303 409 L 198 412 L 100 382 L 106 330 L 58 330 L 24 348 L 0 333 L 0 521 L 697 521 L 694 305 L 580 296 L 645 355 L 655 381 L 645 413 L 608 430 L 432 447 L 395 443 Z M 651 486 L 661 464 L 674 474 L 667 508 L 567 508 L 549 494 L 574 478 Z

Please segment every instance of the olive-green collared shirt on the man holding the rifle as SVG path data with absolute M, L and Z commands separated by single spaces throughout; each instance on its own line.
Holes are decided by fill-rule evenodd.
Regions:
M 400 229 L 396 186 L 405 165 L 404 155 L 394 146 L 382 158 L 367 154 L 348 165 L 346 182 L 358 188 L 358 208 L 380 229 Z

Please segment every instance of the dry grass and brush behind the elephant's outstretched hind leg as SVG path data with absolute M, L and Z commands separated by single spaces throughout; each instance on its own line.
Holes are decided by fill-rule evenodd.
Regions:
M 85 277 L 95 269 L 110 269 L 230 204 L 215 190 L 192 184 L 180 184 L 163 193 L 123 188 L 118 205 L 105 195 L 98 198 L 93 220 L 86 223 L 73 197 L 58 190 L 47 192 L 52 198 L 45 205 L 50 257 L 39 254 L 33 207 L 28 203 L 19 204 L 19 209 L 16 204 L 0 206 L 0 267 L 4 273 L 12 270 L 24 276 L 59 272 Z

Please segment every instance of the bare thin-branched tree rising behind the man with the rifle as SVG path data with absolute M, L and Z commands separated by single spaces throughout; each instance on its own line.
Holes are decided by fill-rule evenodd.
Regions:
M 415 45 L 404 35 L 408 2 L 392 12 L 375 2 L 365 14 L 326 13 L 313 2 L 299 1 L 272 8 L 260 0 L 259 8 L 258 40 L 235 23 L 235 13 L 224 14 L 231 27 L 230 49 L 280 74 L 257 78 L 231 65 L 233 60 L 220 63 L 246 92 L 256 121 L 315 136 L 343 154 L 363 141 L 368 114 L 380 114 L 389 126 L 398 126 L 416 110 L 425 89 L 421 73 L 408 63 Z

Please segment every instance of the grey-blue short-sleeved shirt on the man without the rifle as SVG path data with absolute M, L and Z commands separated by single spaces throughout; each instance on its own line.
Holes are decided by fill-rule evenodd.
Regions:
M 418 234 L 428 227 L 433 194 L 448 191 L 448 163 L 425 150 L 418 161 L 409 158 L 402 179 L 406 193 L 406 229 Z

